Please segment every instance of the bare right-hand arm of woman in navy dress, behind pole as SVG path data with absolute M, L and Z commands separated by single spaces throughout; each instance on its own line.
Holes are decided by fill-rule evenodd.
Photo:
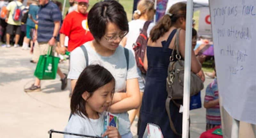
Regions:
M 185 58 L 185 30 L 180 30 L 180 54 Z M 191 48 L 191 71 L 195 74 L 201 70 L 201 63 L 197 60 L 194 50 Z

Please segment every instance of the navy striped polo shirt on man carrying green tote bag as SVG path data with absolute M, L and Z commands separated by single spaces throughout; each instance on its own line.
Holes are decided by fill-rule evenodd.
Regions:
M 59 7 L 52 1 L 40 6 L 38 11 L 37 41 L 48 42 L 52 38 L 54 21 L 61 21 Z

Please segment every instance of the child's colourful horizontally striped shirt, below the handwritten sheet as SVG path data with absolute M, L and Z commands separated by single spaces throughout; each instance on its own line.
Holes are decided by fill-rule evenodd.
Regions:
M 219 98 L 217 79 L 215 78 L 212 83 L 210 83 L 205 91 L 204 102 L 209 102 Z M 220 125 L 220 105 L 215 105 L 214 107 L 206 109 L 206 123 L 213 125 Z

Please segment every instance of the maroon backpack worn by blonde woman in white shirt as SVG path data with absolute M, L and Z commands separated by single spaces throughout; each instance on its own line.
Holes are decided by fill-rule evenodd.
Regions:
M 147 71 L 144 69 L 144 55 L 145 55 L 145 50 L 148 44 L 148 25 L 150 24 L 150 21 L 146 21 L 143 29 L 140 29 L 140 35 L 137 38 L 136 42 L 132 45 L 134 53 L 135 53 L 135 60 L 137 63 L 138 68 L 142 73 L 146 73 Z

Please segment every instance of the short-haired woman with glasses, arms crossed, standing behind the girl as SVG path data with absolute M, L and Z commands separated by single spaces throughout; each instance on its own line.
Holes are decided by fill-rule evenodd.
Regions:
M 72 90 L 86 65 L 100 64 L 108 69 L 116 80 L 109 112 L 118 116 L 121 137 L 132 138 L 127 111 L 139 107 L 140 90 L 134 55 L 130 50 L 125 52 L 124 47 L 119 45 L 129 30 L 126 13 L 118 2 L 102 1 L 92 7 L 87 19 L 95 40 L 86 42 L 71 52 L 68 78 L 71 79 Z

